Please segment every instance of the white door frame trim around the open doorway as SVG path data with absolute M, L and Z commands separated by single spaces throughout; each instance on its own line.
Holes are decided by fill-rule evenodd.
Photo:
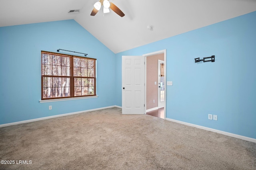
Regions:
M 160 50 L 160 51 L 155 51 L 155 52 L 152 52 L 152 53 L 147 53 L 147 54 L 144 54 L 144 55 L 142 55 L 142 56 L 144 56 L 145 57 L 145 62 L 147 62 L 147 57 L 148 56 L 151 56 L 151 55 L 157 55 L 157 54 L 162 54 L 162 53 L 164 53 L 164 62 L 166 63 L 166 49 L 164 49 L 164 50 Z M 164 64 L 165 66 L 164 66 L 164 76 L 165 76 L 165 78 L 164 78 L 164 84 L 166 84 L 166 64 Z M 146 72 L 146 70 L 147 70 L 147 64 L 145 63 L 145 114 L 146 114 L 146 108 L 147 108 L 147 106 L 146 106 L 146 98 L 147 98 L 147 93 L 146 93 L 146 91 L 147 91 L 147 85 L 146 85 L 146 83 L 147 83 L 147 72 Z M 164 119 L 166 119 L 166 88 L 164 88 Z

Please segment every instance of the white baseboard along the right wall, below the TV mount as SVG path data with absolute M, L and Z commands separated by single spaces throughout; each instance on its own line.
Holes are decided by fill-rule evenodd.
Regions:
M 230 137 L 235 137 L 235 138 L 238 138 L 238 139 L 243 139 L 245 141 L 250 141 L 250 142 L 256 143 L 256 139 L 254 139 L 254 138 L 245 137 L 245 136 L 241 136 L 241 135 L 236 135 L 234 133 L 228 133 L 228 132 L 224 132 L 224 131 L 220 131 L 220 130 L 216 130 L 216 129 L 212 129 L 212 128 L 208 128 L 208 127 L 204 127 L 204 126 L 194 125 L 194 124 L 191 124 L 191 123 L 186 123 L 184 121 L 178 121 L 178 120 L 169 119 L 169 118 L 166 118 L 166 120 L 173 121 L 173 122 L 176 122 L 176 123 L 180 123 L 180 124 L 183 124 L 183 125 L 197 127 L 199 129 L 204 129 L 206 131 L 212 131 L 212 132 L 220 133 L 222 135 L 227 135 L 227 136 L 230 136 Z

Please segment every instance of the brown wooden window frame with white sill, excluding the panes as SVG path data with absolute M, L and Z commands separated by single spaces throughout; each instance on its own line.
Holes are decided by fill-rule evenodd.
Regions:
M 56 76 L 56 75 L 53 75 L 54 74 L 53 73 L 54 68 L 48 69 L 48 70 L 52 71 L 51 75 L 47 75 L 47 73 L 44 74 L 45 73 L 45 68 L 43 68 L 43 66 L 45 66 L 45 65 L 43 64 L 43 55 L 54 55 L 54 56 L 60 56 L 60 57 L 68 58 L 68 60 L 70 62 L 69 63 L 70 75 L 69 76 L 63 76 L 63 75 L 57 75 Z M 83 65 L 84 67 L 87 68 L 86 69 L 87 76 L 77 76 L 77 75 L 75 75 L 75 73 L 76 74 L 79 74 L 79 73 L 75 71 L 74 59 L 82 59 L 81 63 L 83 63 L 84 61 L 86 61 L 86 63 L 90 63 L 91 64 L 90 66 L 92 66 L 90 68 L 93 69 L 92 73 L 94 75 L 88 76 L 88 70 L 90 70 L 89 67 L 88 67 L 88 64 L 86 66 Z M 97 59 L 88 58 L 88 57 L 81 57 L 81 56 L 76 56 L 76 55 L 68 55 L 68 54 L 62 54 L 62 53 L 54 53 L 54 52 L 48 52 L 48 51 L 41 51 L 41 100 L 40 100 L 40 102 L 41 103 L 42 102 L 47 102 L 47 101 L 49 101 L 49 102 L 53 101 L 54 102 L 54 101 L 61 101 L 61 100 L 74 100 L 74 99 L 81 99 L 81 98 L 95 98 L 95 97 L 98 97 L 97 94 L 96 94 L 96 87 L 97 87 L 96 86 L 96 82 L 97 82 L 96 81 L 96 76 L 97 76 L 96 61 L 97 61 Z M 51 64 L 54 64 L 54 63 L 51 62 Z M 62 69 L 63 66 L 61 65 L 60 68 Z M 48 70 L 46 70 L 46 72 Z M 81 71 L 80 73 L 83 74 L 82 70 L 80 70 L 80 71 Z M 85 72 L 84 72 L 84 74 L 85 74 Z M 44 78 L 70 78 L 69 96 L 62 96 L 62 97 L 53 97 L 52 96 L 51 98 L 44 98 L 44 88 L 51 88 L 51 92 L 52 92 L 52 90 L 54 88 L 53 84 L 52 84 L 52 87 L 44 87 Z M 89 94 L 89 91 L 88 91 L 87 95 L 79 95 L 78 96 L 76 94 L 76 92 L 75 92 L 75 80 L 74 80 L 75 78 L 91 79 L 92 82 L 93 82 L 92 83 L 93 85 L 91 86 L 91 87 L 93 87 L 93 94 Z M 81 82 L 82 82 L 82 80 L 81 80 Z M 87 83 L 87 86 L 89 86 L 88 84 L 89 84 L 89 82 Z M 81 84 L 81 87 L 82 87 L 82 84 Z M 86 87 L 86 85 L 83 86 L 83 87 Z M 61 88 L 61 87 L 59 87 L 59 88 Z M 88 90 L 89 90 L 89 88 L 88 88 Z M 82 94 L 82 88 L 81 88 L 81 94 Z

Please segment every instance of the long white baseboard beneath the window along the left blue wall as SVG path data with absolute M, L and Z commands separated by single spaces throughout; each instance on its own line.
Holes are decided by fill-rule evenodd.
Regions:
M 22 123 L 29 123 L 29 122 L 40 121 L 40 120 L 45 120 L 45 119 L 52 119 L 52 118 L 55 118 L 55 117 L 74 115 L 74 114 L 78 114 L 78 113 L 84 113 L 84 112 L 88 112 L 88 111 L 95 111 L 95 110 L 101 110 L 101 109 L 108 109 L 108 108 L 112 108 L 112 107 L 119 107 L 120 108 L 120 106 L 101 107 L 101 108 L 97 108 L 97 109 L 90 109 L 90 110 L 84 110 L 84 111 L 77 111 L 77 112 L 73 112 L 73 113 L 66 113 L 66 114 L 61 114 L 61 115 L 54 115 L 54 116 L 48 116 L 48 117 L 41 117 L 41 118 L 37 118 L 37 119 L 17 121 L 17 122 L 13 122 L 13 123 L 6 123 L 6 124 L 0 125 L 0 127 L 6 127 L 6 126 L 11 126 L 11 125 L 18 125 L 18 124 L 22 124 Z

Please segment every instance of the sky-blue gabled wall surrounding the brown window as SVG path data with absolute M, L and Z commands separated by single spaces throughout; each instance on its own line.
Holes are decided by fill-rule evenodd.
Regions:
M 98 98 L 39 103 L 41 50 L 57 49 L 97 59 Z M 74 20 L 0 27 L 0 124 L 115 105 L 115 62 L 115 54 Z

